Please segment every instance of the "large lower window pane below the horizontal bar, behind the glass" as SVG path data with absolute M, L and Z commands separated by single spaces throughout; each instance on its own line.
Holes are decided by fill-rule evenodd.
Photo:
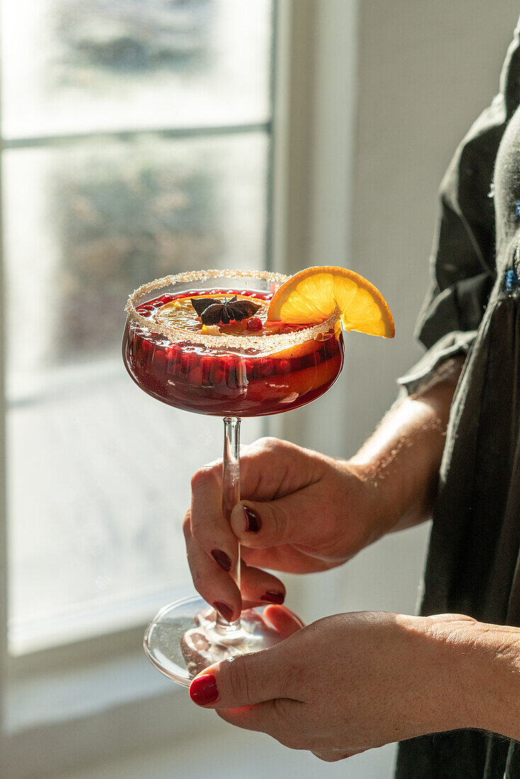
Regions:
M 264 266 L 267 145 L 245 133 L 5 152 L 16 622 L 37 630 L 72 607 L 188 583 L 189 475 L 220 456 L 221 425 L 133 385 L 122 309 L 165 273 Z

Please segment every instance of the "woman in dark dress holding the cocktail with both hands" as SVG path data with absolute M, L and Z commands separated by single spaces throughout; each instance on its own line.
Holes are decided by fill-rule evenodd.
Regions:
M 283 585 L 257 566 L 338 566 L 433 512 L 421 616 L 336 615 L 299 629 L 279 612 L 292 636 L 207 669 L 190 689 L 225 720 L 324 760 L 401 741 L 398 777 L 520 776 L 519 35 L 441 187 L 419 317 L 428 351 L 400 379 L 404 397 L 351 460 L 256 442 L 232 530 L 219 466 L 203 468 L 186 517 L 196 587 L 235 618 L 233 533 L 246 598 L 280 603 Z

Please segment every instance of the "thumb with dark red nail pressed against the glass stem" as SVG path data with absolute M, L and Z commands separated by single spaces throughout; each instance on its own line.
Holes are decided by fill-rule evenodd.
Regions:
M 270 501 L 241 500 L 231 513 L 233 533 L 249 548 L 264 549 L 288 543 L 304 544 L 314 534 L 308 490 Z

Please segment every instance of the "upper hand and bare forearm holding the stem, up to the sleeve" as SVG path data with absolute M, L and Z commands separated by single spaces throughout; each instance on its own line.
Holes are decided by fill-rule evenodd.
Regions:
M 338 566 L 390 530 L 423 522 L 437 490 L 444 430 L 462 360 L 423 395 L 396 405 L 352 460 L 277 439 L 242 456 L 241 502 L 221 511 L 221 462 L 193 476 L 184 523 L 202 597 L 226 619 L 243 606 L 281 603 L 283 584 L 257 566 L 310 573 Z M 242 598 L 232 575 L 242 543 Z M 231 574 L 231 575 L 230 575 Z

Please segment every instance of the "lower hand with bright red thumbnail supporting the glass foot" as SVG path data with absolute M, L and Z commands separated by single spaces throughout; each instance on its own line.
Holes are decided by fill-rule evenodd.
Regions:
M 327 761 L 479 727 L 474 685 L 465 683 L 476 624 L 461 615 L 334 615 L 271 649 L 207 668 L 189 693 L 239 728 Z

